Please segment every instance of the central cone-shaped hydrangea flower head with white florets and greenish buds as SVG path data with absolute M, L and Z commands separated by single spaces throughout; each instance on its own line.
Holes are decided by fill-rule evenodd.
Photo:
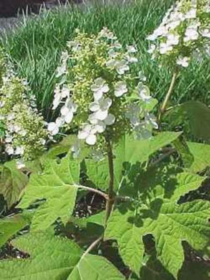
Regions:
M 52 109 L 59 108 L 59 116 L 48 123 L 50 133 L 74 127 L 78 139 L 101 147 L 105 138 L 117 142 L 125 131 L 151 136 L 157 128 L 149 113 L 154 99 L 145 77 L 136 72 L 135 54 L 133 45 L 124 49 L 105 27 L 97 35 L 77 30 L 57 69 Z

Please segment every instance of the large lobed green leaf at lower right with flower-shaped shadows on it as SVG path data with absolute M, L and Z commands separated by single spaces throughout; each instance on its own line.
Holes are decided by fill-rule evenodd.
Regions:
M 205 177 L 173 167 L 151 168 L 124 179 L 121 191 L 133 196 L 132 204 L 116 209 L 108 220 L 106 239 L 116 239 L 119 253 L 138 274 L 144 252 L 142 237 L 155 238 L 157 257 L 177 277 L 184 255 L 182 240 L 195 249 L 202 248 L 210 234 L 208 201 L 192 201 L 178 205 L 179 197 L 200 186 Z M 124 191 L 124 192 L 123 192 Z

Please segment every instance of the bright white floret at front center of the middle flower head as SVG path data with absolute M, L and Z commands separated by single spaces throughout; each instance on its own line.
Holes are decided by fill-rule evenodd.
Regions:
M 92 116 L 99 120 L 104 120 L 108 115 L 108 108 L 111 106 L 112 100 L 107 97 L 101 97 L 89 106 L 90 111 L 93 112 Z

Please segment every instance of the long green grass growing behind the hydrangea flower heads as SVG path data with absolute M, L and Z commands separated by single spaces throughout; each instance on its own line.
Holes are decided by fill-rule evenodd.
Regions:
M 67 6 L 40 16 L 25 18 L 19 27 L 1 38 L 19 76 L 25 77 L 36 95 L 39 108 L 50 119 L 55 69 L 60 52 L 77 27 L 98 32 L 103 26 L 113 30 L 123 45 L 135 43 L 139 68 L 148 77 L 153 96 L 162 100 L 171 73 L 151 61 L 146 35 L 159 24 L 173 0 L 136 0 L 128 4 Z M 192 63 L 177 80 L 173 101 L 197 99 L 210 104 L 210 65 L 207 59 Z

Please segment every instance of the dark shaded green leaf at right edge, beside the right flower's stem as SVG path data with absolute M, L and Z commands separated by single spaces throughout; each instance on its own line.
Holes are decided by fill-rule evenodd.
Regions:
M 187 101 L 175 106 L 166 114 L 171 127 L 182 125 L 196 138 L 210 140 L 210 109 L 199 101 Z

